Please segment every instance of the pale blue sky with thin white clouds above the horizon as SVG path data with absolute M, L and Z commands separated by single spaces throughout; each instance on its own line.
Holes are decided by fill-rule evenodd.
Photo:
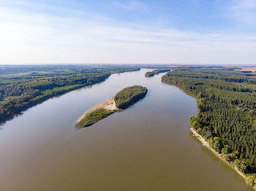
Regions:
M 256 64 L 256 0 L 0 0 L 0 64 Z

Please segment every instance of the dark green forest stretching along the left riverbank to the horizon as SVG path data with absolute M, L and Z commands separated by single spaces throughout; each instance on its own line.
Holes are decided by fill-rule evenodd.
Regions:
M 86 85 L 93 85 L 107 79 L 110 74 L 125 71 L 139 70 L 132 66 L 104 66 L 91 67 L 83 66 L 15 66 L 15 71 L 7 73 L 17 73 L 20 71 L 30 71 L 30 74 L 18 76 L 0 76 L 0 122 L 10 119 L 15 114 L 28 109 L 35 104 L 52 98 L 56 95 L 67 93 Z M 44 71 L 44 67 L 45 70 Z M 51 67 L 53 69 L 51 69 Z M 64 71 L 59 71 L 62 69 Z M 36 71 L 33 71 L 33 70 Z M 56 70 L 57 69 L 57 70 Z M 70 69 L 67 71 L 66 69 Z M 41 72 L 37 72 L 37 71 Z M 1 71 L 3 72 L 3 71 Z

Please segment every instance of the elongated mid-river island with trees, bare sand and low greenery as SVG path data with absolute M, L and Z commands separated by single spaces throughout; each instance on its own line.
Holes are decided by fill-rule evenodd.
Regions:
M 77 122 L 78 128 L 86 128 L 119 109 L 127 109 L 127 107 L 144 98 L 147 92 L 148 89 L 146 87 L 139 85 L 124 88 L 113 98 L 109 98 L 85 112 Z

